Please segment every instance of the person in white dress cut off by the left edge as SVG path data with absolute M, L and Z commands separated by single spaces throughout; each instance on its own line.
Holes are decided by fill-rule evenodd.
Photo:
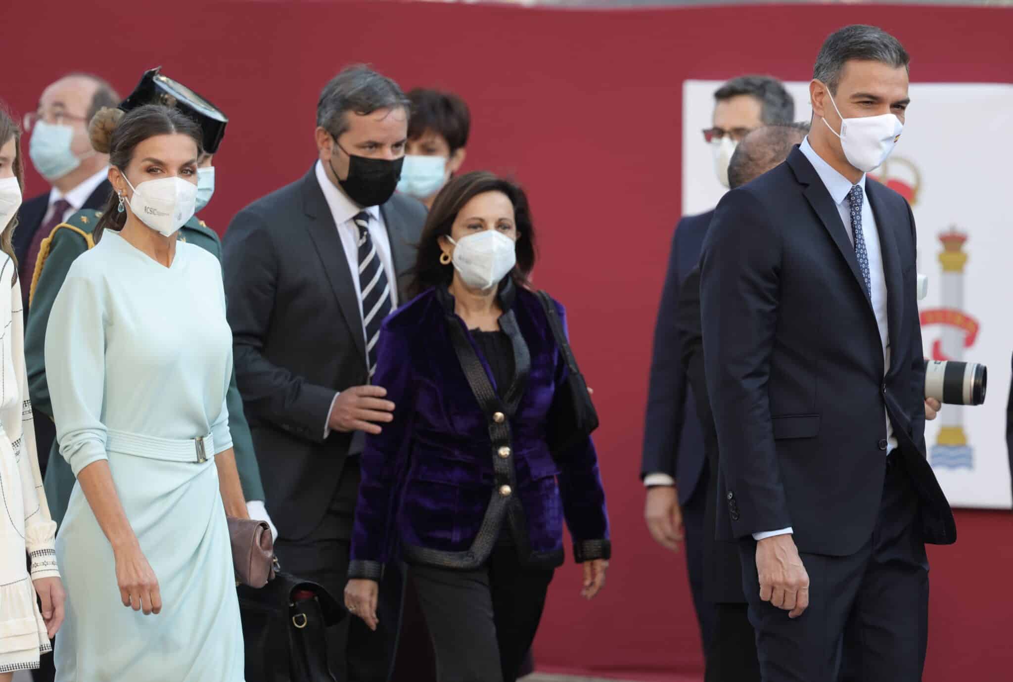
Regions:
M 17 227 L 24 169 L 21 131 L 0 105 L 0 282 L 7 294 L 0 302 L 0 682 L 14 671 L 37 668 L 41 655 L 64 618 L 64 589 L 54 548 L 56 524 L 50 519 L 24 373 L 21 292 L 11 248 Z M 28 559 L 26 565 L 25 561 Z M 41 602 L 40 608 L 37 599 Z

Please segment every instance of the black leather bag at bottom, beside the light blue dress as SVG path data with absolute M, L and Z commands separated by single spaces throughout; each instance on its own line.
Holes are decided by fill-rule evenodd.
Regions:
M 344 617 L 322 586 L 278 573 L 262 588 L 236 588 L 246 682 L 336 682 L 327 667 L 326 628 Z

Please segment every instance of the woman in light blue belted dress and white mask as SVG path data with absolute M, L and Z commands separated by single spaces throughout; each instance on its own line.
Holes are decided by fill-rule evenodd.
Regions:
M 193 214 L 201 132 L 146 105 L 102 109 L 91 137 L 115 195 L 46 335 L 60 453 L 77 476 L 57 536 L 56 679 L 242 682 L 232 334 L 218 261 L 175 235 Z

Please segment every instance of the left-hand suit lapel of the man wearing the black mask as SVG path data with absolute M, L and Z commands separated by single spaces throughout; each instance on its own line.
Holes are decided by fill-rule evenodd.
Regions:
M 324 272 L 330 283 L 337 306 L 352 332 L 356 348 L 366 358 L 366 339 L 363 337 L 363 313 L 356 296 L 356 285 L 348 271 L 348 260 L 337 233 L 334 217 L 324 199 L 323 191 L 317 182 L 315 167 L 303 177 L 303 210 L 309 218 L 306 224 L 310 239 L 316 246 L 317 254 L 323 262 Z

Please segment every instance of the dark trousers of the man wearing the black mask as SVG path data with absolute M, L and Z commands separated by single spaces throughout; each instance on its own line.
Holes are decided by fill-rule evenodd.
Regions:
M 286 572 L 319 583 L 342 606 L 360 479 L 359 459 L 349 457 L 338 490 L 320 525 L 305 538 L 293 541 L 280 537 L 275 543 Z M 387 682 L 397 649 L 403 587 L 400 566 L 389 563 L 380 583 L 377 604 L 380 624 L 376 631 L 353 615 L 327 629 L 327 661 L 338 682 Z

